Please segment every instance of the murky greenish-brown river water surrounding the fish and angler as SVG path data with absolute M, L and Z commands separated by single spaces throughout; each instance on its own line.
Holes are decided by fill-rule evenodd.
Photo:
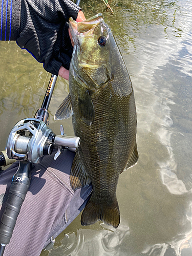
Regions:
M 41 256 L 192 255 L 192 2 L 190 0 L 80 3 L 86 17 L 102 12 L 123 54 L 135 91 L 139 162 L 120 175 L 121 223 L 82 227 L 80 216 Z M 0 150 L 13 125 L 33 117 L 50 74 L 15 42 L 1 42 Z M 46 78 L 47 77 L 47 78 Z M 45 83 L 45 84 L 44 84 Z M 68 94 L 58 78 L 50 127 L 72 135 L 71 120 L 53 116 Z

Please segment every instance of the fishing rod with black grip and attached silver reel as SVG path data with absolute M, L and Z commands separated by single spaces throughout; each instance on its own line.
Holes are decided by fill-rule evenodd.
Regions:
M 76 4 L 79 3 L 80 0 L 77 0 Z M 3 256 L 5 247 L 11 240 L 20 208 L 29 189 L 32 164 L 40 163 L 44 156 L 53 153 L 54 148 L 57 149 L 54 156 L 56 160 L 63 149 L 68 148 L 75 152 L 80 144 L 79 137 L 64 135 L 62 125 L 60 125 L 60 135 L 54 134 L 47 126 L 48 108 L 56 80 L 57 76 L 52 74 L 41 108 L 37 110 L 34 118 L 26 118 L 15 124 L 9 134 L 6 151 L 0 152 L 0 167 L 15 160 L 19 161 L 0 222 L 0 256 Z

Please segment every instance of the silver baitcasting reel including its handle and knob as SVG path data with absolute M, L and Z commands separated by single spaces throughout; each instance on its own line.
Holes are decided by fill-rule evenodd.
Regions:
M 55 135 L 44 121 L 36 118 L 20 120 L 11 130 L 6 143 L 8 158 L 36 164 L 42 157 L 51 155 L 53 148 L 57 148 L 55 160 L 64 148 L 75 152 L 80 138 L 65 136 L 62 125 L 60 132 L 61 135 Z

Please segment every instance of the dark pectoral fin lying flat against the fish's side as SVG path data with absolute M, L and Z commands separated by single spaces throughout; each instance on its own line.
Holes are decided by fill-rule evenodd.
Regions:
M 89 94 L 89 91 L 86 90 L 78 96 L 78 109 L 80 117 L 88 122 L 94 122 L 95 110 L 93 101 Z

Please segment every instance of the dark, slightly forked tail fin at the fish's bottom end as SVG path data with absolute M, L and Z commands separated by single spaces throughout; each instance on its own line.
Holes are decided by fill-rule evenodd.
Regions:
M 92 198 L 91 198 L 92 199 Z M 89 200 L 81 215 L 81 225 L 88 226 L 101 220 L 105 224 L 117 228 L 120 223 L 119 206 L 117 200 L 111 205 L 96 204 Z

